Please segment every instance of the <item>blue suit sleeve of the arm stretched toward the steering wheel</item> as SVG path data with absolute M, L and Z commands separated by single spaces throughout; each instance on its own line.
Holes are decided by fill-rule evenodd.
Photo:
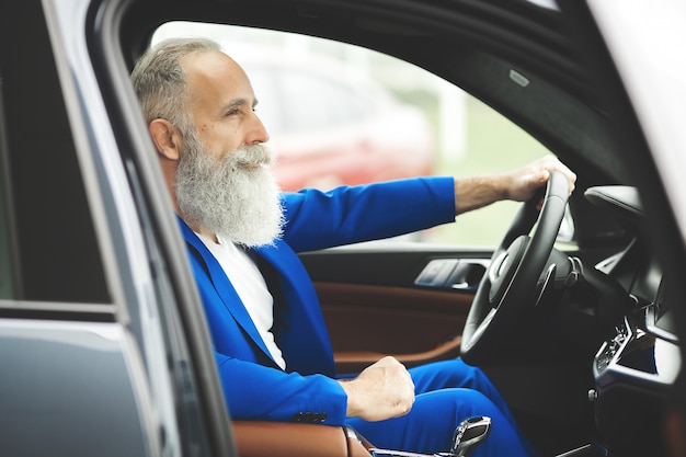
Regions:
M 419 178 L 283 195 L 284 240 L 296 251 L 411 233 L 455 221 L 453 178 Z

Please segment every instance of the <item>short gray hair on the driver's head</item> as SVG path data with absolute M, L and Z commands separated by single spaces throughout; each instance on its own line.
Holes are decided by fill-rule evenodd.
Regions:
M 186 75 L 180 62 L 186 56 L 213 50 L 220 46 L 208 38 L 168 38 L 138 59 L 132 82 L 147 123 L 167 119 L 182 135 L 194 128 L 186 106 Z

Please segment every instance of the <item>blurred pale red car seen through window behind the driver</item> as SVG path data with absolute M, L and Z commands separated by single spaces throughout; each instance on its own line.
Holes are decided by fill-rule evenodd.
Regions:
M 284 191 L 431 174 L 426 115 L 369 77 L 327 60 L 241 57 Z

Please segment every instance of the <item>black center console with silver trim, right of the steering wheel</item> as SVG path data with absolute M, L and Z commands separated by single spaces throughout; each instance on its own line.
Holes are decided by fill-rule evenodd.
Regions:
M 602 454 L 660 455 L 647 443 L 661 443 L 667 389 L 681 368 L 664 285 L 648 307 L 626 317 L 593 361 L 595 410 Z

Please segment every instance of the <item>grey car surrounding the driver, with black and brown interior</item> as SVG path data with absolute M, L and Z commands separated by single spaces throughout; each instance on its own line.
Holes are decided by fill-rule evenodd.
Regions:
M 678 2 L 628 3 L 0 3 L 0 455 L 368 455 L 351 430 L 231 420 L 128 80 L 155 30 L 176 20 L 407 59 L 578 173 L 574 238 L 558 252 L 593 272 L 575 276 L 588 287 L 562 288 L 479 356 L 461 335 L 492 248 L 304 253 L 340 373 L 385 354 L 408 366 L 461 355 L 491 376 L 544 456 L 683 455 L 686 141 L 674 107 L 686 102 L 686 15 Z M 655 33 L 622 35 L 639 19 Z M 426 281 L 436 265 L 445 276 Z

